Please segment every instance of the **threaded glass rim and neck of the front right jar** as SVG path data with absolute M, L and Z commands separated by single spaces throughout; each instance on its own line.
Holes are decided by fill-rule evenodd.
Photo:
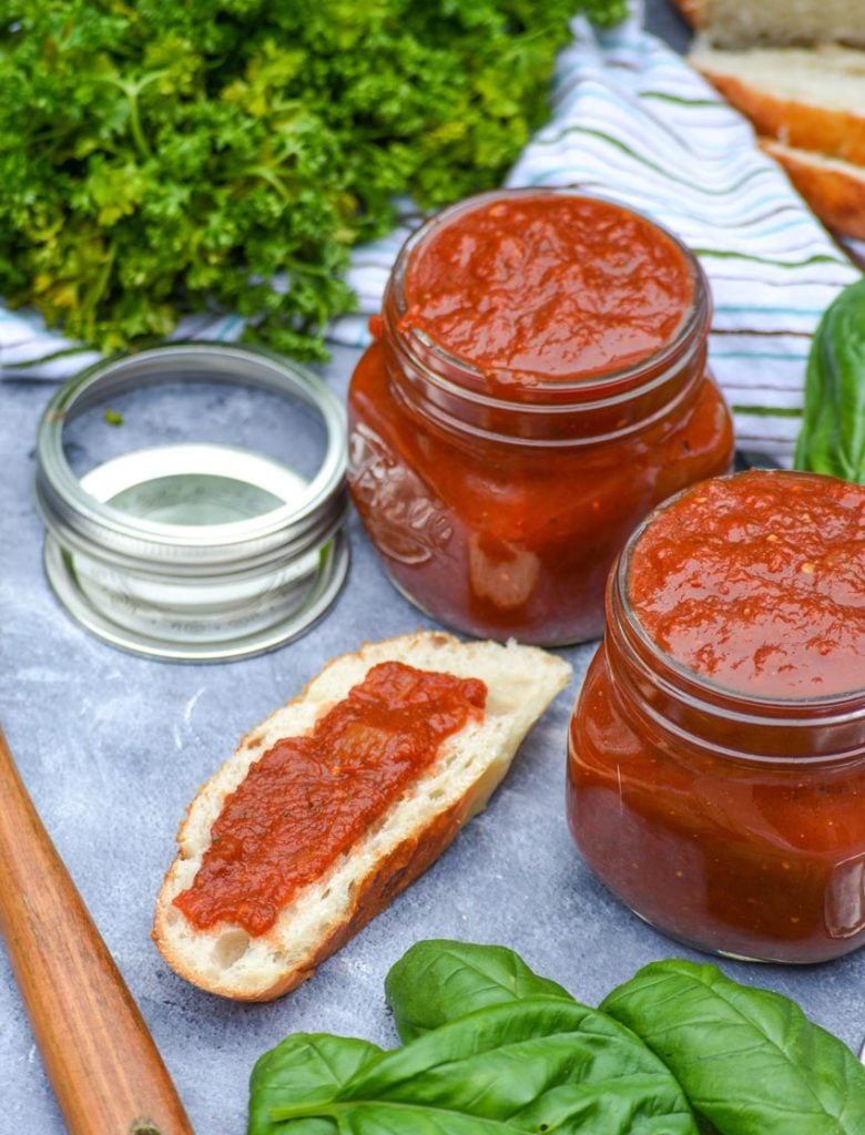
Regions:
M 823 473 L 812 473 L 800 470 L 766 469 L 762 470 L 771 477 L 796 477 L 820 480 L 835 480 Z M 729 481 L 747 476 L 748 470 L 728 473 L 712 478 L 713 481 Z M 814 696 L 763 695 L 745 689 L 725 686 L 680 662 L 660 646 L 648 633 L 635 611 L 629 595 L 628 577 L 633 550 L 646 529 L 655 518 L 675 504 L 682 497 L 694 491 L 690 485 L 667 497 L 652 510 L 633 529 L 622 550 L 619 553 L 607 580 L 607 625 L 616 631 L 618 641 L 624 641 L 630 658 L 639 658 L 640 663 L 650 670 L 653 678 L 666 688 L 666 691 L 686 699 L 690 705 L 716 712 L 723 707 L 724 716 L 742 724 L 766 724 L 778 720 L 779 714 L 795 717 L 797 725 L 830 725 L 862 718 L 865 723 L 865 687 L 853 687 L 833 693 Z M 775 759 L 775 758 L 772 758 Z M 798 762 L 799 758 L 797 758 Z M 820 758 L 825 759 L 825 758 Z

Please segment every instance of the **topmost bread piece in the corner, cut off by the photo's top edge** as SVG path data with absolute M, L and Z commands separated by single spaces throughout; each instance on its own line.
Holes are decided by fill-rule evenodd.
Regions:
M 674 0 L 715 47 L 818 43 L 865 47 L 863 0 Z

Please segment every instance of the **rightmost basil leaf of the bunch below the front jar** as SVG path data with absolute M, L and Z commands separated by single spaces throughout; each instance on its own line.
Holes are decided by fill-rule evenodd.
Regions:
M 645 966 L 602 1002 L 722 1135 L 862 1135 L 865 1069 L 795 1001 L 715 966 Z

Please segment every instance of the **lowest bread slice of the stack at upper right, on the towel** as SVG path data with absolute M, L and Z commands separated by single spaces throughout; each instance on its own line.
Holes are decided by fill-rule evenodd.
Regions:
M 797 150 L 772 138 L 761 138 L 759 144 L 783 166 L 828 228 L 865 241 L 865 167 Z

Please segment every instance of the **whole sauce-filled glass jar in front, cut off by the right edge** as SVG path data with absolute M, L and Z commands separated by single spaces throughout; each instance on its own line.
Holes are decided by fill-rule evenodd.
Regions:
M 583 859 L 671 936 L 865 943 L 865 487 L 750 471 L 658 508 L 611 573 L 568 772 Z

